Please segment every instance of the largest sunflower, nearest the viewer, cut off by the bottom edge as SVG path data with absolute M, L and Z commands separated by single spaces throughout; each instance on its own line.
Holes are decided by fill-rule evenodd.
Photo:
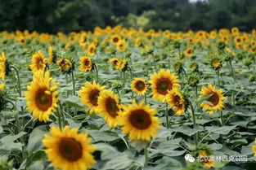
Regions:
M 91 145 L 92 139 L 88 133 L 78 131 L 68 126 L 62 130 L 53 126 L 50 129 L 51 135 L 44 135 L 42 142 L 47 147 L 45 152 L 54 168 L 84 170 L 92 168 L 92 164 L 96 163 L 92 156 L 96 146 Z

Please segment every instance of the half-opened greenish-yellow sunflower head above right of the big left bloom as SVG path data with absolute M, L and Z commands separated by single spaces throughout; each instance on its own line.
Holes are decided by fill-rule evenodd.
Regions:
M 61 72 L 69 74 L 70 72 L 74 71 L 74 59 L 69 57 L 58 59 L 56 64 L 59 66 Z

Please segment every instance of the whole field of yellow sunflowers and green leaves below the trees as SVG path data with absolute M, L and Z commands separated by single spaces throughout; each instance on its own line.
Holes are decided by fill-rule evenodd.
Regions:
M 255 170 L 256 30 L 0 33 L 0 170 Z

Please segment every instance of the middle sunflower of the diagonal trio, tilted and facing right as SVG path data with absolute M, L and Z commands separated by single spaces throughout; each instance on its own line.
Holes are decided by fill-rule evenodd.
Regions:
M 104 116 L 104 119 L 110 128 L 114 128 L 118 123 L 120 106 L 117 94 L 112 91 L 104 90 L 98 98 L 97 112 Z

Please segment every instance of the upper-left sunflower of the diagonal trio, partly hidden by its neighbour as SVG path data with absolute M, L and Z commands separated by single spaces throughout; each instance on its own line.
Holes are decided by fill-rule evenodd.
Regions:
M 97 111 L 98 98 L 101 92 L 105 89 L 105 86 L 97 84 L 96 81 L 93 83 L 86 82 L 85 85 L 79 91 L 79 97 L 83 104 L 90 107 L 90 112 Z

